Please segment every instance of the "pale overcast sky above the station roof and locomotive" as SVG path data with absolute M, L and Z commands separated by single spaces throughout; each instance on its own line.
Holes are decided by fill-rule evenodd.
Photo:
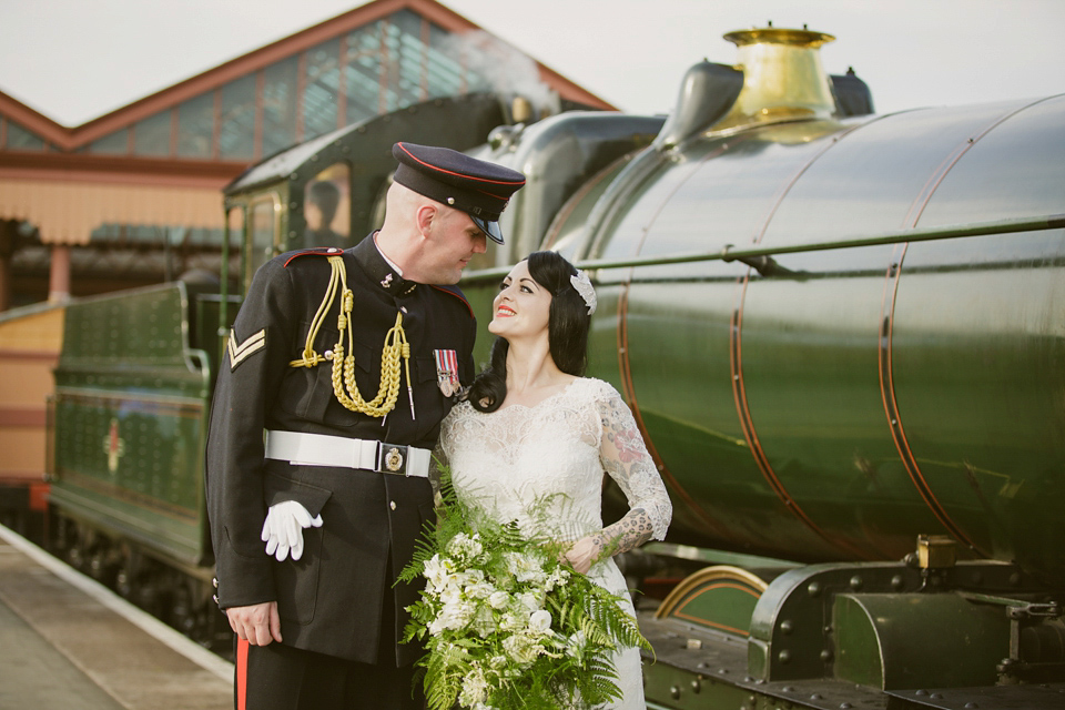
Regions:
M 444 0 L 628 113 L 668 113 L 687 69 L 737 61 L 726 32 L 836 40 L 878 113 L 1065 93 L 1065 0 Z M 0 91 L 80 125 L 346 12 L 352 0 L 0 0 Z

